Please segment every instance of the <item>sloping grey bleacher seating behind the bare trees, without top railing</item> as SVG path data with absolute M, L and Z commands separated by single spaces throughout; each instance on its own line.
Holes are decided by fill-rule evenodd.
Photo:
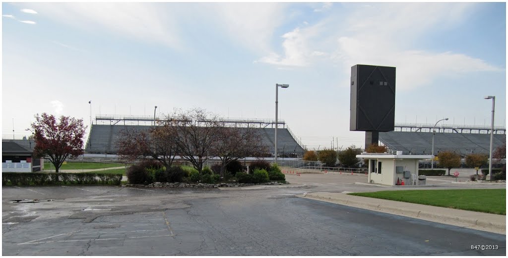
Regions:
M 116 142 L 120 136 L 120 131 L 125 128 L 135 128 L 136 130 L 148 130 L 148 125 L 107 125 L 93 124 L 90 129 L 90 135 L 86 142 L 86 153 L 117 153 Z M 263 137 L 263 143 L 269 147 L 271 153 L 274 152 L 275 128 L 256 128 Z M 291 136 L 287 128 L 278 128 L 278 153 L 298 153 L 303 154 L 303 148 Z

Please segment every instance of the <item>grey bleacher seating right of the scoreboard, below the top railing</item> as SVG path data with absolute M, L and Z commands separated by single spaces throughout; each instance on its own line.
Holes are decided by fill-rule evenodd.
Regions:
M 379 141 L 392 150 L 404 154 L 427 154 L 432 151 L 432 133 L 422 132 L 380 132 Z M 506 143 L 506 135 L 494 134 L 492 148 Z M 489 153 L 490 134 L 436 133 L 434 154 L 439 151 L 455 151 L 462 155 Z

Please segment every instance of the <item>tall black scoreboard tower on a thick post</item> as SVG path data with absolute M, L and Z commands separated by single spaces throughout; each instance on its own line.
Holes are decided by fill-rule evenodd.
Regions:
M 395 127 L 395 67 L 357 64 L 351 67 L 350 131 L 365 131 L 365 148 L 379 132 Z

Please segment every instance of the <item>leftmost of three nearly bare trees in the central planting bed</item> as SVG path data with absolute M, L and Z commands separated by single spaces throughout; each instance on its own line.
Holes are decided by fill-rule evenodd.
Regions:
M 177 150 L 174 142 L 175 134 L 174 128 L 166 122 L 161 122 L 160 125 L 146 131 L 125 129 L 120 132 L 118 153 L 131 162 L 152 158 L 169 170 Z

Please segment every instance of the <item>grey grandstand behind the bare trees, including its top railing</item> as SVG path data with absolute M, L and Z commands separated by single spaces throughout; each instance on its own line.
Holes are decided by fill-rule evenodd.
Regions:
M 274 153 L 275 121 L 269 119 L 222 119 L 224 126 L 245 127 L 256 126 L 263 138 L 263 143 Z M 153 126 L 153 117 L 140 116 L 96 116 L 95 124 L 91 125 L 90 134 L 85 145 L 85 153 L 116 154 L 116 143 L 120 132 L 127 128 L 148 130 Z M 283 120 L 278 121 L 278 153 L 287 157 L 301 157 L 303 145 L 294 136 Z

